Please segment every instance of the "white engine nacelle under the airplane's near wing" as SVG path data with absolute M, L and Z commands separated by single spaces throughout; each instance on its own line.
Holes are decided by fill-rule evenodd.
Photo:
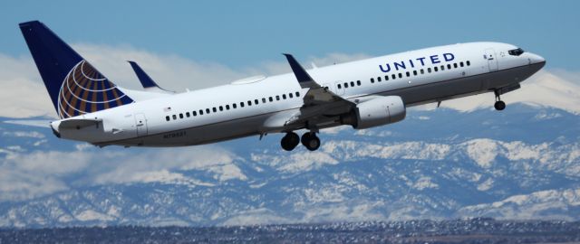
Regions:
M 379 97 L 357 104 L 350 114 L 341 117 L 341 123 L 355 129 L 378 127 L 399 122 L 406 113 L 401 97 Z

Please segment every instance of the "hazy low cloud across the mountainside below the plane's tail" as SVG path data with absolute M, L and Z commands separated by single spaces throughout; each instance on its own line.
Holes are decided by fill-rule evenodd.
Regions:
M 0 202 L 24 201 L 54 192 L 102 184 L 176 183 L 214 186 L 231 180 L 246 181 L 237 155 L 217 145 L 188 148 L 86 147 L 75 151 L 5 151 L 0 158 Z M 201 171 L 208 183 L 187 175 Z

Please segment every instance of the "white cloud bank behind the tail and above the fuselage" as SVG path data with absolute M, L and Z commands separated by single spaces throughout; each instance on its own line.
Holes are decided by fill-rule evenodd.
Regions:
M 282 58 L 280 61 L 265 61 L 257 67 L 234 69 L 214 62 L 147 52 L 128 45 L 79 43 L 73 44 L 73 49 L 115 84 L 128 89 L 141 87 L 126 61 L 137 61 L 161 87 L 176 91 L 224 85 L 255 75 L 290 72 Z M 318 66 L 324 66 L 365 57 L 364 54 L 331 53 L 324 57 L 311 57 L 304 62 L 314 61 Z M 28 55 L 14 58 L 0 53 L 0 86 L 3 88 L 0 89 L 0 117 L 56 117 L 34 61 Z

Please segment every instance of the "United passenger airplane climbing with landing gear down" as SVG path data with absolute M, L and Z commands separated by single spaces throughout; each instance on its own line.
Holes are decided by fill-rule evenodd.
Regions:
M 539 55 L 501 42 L 469 42 L 305 70 L 285 53 L 291 73 L 257 76 L 186 92 L 160 89 L 136 62 L 145 90 L 108 80 L 39 21 L 19 24 L 60 119 L 55 136 L 92 145 L 204 145 L 284 133 L 280 145 L 317 150 L 328 127 L 380 127 L 427 103 L 520 88 L 541 70 Z M 152 90 L 150 90 L 152 89 Z M 295 131 L 305 129 L 302 136 Z

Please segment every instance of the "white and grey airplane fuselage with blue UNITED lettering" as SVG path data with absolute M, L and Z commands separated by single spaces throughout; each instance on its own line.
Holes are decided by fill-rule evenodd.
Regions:
M 510 55 L 515 48 L 498 42 L 462 43 L 307 71 L 320 85 L 354 103 L 371 96 L 399 96 L 410 107 L 517 85 L 544 66 L 533 53 Z M 287 73 L 85 114 L 80 117 L 102 123 L 58 133 L 95 145 L 179 146 L 292 131 L 305 125 L 290 127 L 280 121 L 304 105 L 307 90 Z M 60 121 L 52 127 L 58 128 Z M 319 127 L 340 125 L 329 117 Z

